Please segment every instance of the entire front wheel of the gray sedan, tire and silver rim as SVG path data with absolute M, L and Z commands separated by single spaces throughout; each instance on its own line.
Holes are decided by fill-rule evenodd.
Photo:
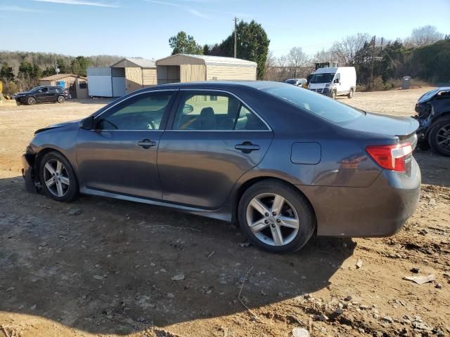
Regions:
M 78 194 L 78 181 L 70 163 L 62 154 L 49 152 L 39 170 L 44 192 L 56 201 L 72 201 Z

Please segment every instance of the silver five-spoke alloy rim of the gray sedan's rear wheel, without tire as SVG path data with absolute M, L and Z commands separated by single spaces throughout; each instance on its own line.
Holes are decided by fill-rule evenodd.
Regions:
M 247 206 L 247 224 L 252 233 L 270 246 L 284 246 L 295 239 L 300 220 L 294 206 L 279 194 L 263 193 Z

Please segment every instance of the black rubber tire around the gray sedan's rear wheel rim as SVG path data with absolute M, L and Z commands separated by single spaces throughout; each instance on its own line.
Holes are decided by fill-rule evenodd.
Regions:
M 266 193 L 278 194 L 285 198 L 285 200 L 288 201 L 288 204 L 290 204 L 289 206 L 293 206 L 297 213 L 300 226 L 298 227 L 297 234 L 293 236 L 292 241 L 288 242 L 288 244 L 279 246 L 266 244 L 252 232 L 248 225 L 247 212 L 250 201 L 259 195 L 264 195 Z M 250 186 L 248 190 L 244 192 L 238 205 L 238 220 L 243 233 L 248 237 L 252 244 L 272 253 L 292 253 L 298 251 L 307 244 L 316 227 L 314 210 L 306 197 L 304 197 L 299 190 L 295 189 L 295 187 L 276 179 L 262 180 Z M 274 224 L 270 226 L 274 226 Z M 270 226 L 267 226 L 265 230 L 270 230 Z

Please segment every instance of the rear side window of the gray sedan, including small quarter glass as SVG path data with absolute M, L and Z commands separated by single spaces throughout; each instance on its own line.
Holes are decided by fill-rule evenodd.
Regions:
M 184 93 L 174 119 L 174 130 L 268 130 L 243 103 L 226 93 Z

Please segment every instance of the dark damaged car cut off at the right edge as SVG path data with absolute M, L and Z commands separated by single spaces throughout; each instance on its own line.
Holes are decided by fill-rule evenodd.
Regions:
M 421 147 L 431 146 L 436 152 L 450 156 L 450 87 L 436 88 L 420 96 L 416 112 Z

